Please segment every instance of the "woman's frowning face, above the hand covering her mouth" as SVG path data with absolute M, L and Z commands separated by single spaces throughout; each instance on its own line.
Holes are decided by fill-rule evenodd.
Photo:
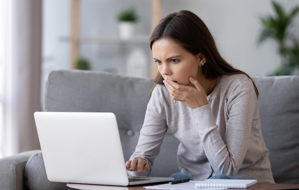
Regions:
M 153 58 L 165 80 L 188 86 L 189 77 L 198 79 L 198 57 L 186 51 L 173 40 L 162 38 L 152 45 Z

